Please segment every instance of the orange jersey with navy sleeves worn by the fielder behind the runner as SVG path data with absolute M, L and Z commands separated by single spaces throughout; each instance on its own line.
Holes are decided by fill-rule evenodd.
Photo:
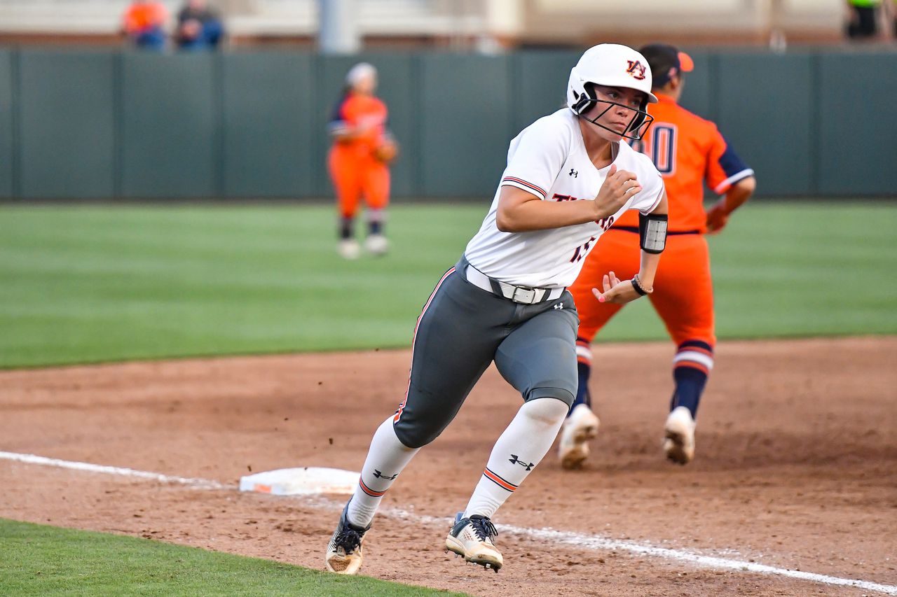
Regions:
M 717 125 L 692 114 L 675 100 L 658 95 L 658 103 L 650 104 L 654 117 L 648 134 L 632 145 L 647 154 L 664 177 L 669 202 L 669 230 L 706 231 L 704 183 L 718 195 L 742 178 L 753 176 L 728 146 Z M 638 226 L 635 212 L 626 212 L 614 226 Z

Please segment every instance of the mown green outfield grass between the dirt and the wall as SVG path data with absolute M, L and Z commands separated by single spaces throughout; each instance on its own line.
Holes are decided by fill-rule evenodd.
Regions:
M 405 347 L 486 209 L 396 205 L 348 262 L 327 205 L 7 205 L 0 367 Z M 748 204 L 710 241 L 719 337 L 897 333 L 895 241 L 897 203 Z M 640 301 L 598 341 L 664 337 Z

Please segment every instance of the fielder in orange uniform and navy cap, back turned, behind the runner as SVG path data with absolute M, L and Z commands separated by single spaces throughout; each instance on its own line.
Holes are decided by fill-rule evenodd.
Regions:
M 653 290 L 651 304 L 666 324 L 676 344 L 673 359 L 675 390 L 664 429 L 664 451 L 675 463 L 694 457 L 694 427 L 698 402 L 710 369 L 716 344 L 713 322 L 713 288 L 710 254 L 705 233 L 726 226 L 729 214 L 753 194 L 755 180 L 748 168 L 708 120 L 695 116 L 676 102 L 682 94 L 684 73 L 692 71 L 692 59 L 665 44 L 640 49 L 653 74 L 652 91 L 658 103 L 649 114 L 654 124 L 633 147 L 649 155 L 664 177 L 669 199 L 666 251 Z M 723 198 L 704 211 L 703 184 Z M 591 410 L 588 377 L 592 366 L 589 349 L 602 327 L 623 305 L 602 303 L 593 296 L 618 276 L 630 278 L 639 271 L 639 221 L 631 213 L 614 222 L 588 257 L 570 292 L 579 310 L 577 358 L 579 391 L 564 422 L 559 456 L 564 468 L 577 468 L 588 457 L 588 439 L 597 436 L 598 418 Z M 605 275 L 610 272 L 610 276 Z M 602 280 L 604 279 L 604 280 Z

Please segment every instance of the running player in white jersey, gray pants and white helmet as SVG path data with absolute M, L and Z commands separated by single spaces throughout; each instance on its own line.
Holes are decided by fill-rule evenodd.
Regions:
M 455 417 L 490 363 L 522 395 L 492 449 L 446 549 L 498 571 L 492 515 L 551 448 L 576 395 L 579 319 L 565 287 L 597 238 L 627 210 L 642 221 L 631 280 L 605 276 L 586 300 L 627 303 L 649 292 L 666 238 L 666 195 L 639 139 L 656 101 L 645 58 L 625 46 L 590 48 L 570 72 L 568 107 L 514 138 L 483 226 L 446 272 L 414 328 L 405 401 L 370 443 L 361 479 L 327 546 L 327 569 L 354 574 L 383 494 Z

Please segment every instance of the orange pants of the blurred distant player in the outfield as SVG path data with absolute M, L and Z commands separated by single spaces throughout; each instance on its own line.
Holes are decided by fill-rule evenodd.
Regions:
M 372 210 L 382 210 L 389 203 L 389 169 L 369 156 L 360 156 L 354 148 L 334 147 L 327 160 L 330 177 L 336 189 L 336 201 L 344 218 L 353 218 L 364 196 Z

